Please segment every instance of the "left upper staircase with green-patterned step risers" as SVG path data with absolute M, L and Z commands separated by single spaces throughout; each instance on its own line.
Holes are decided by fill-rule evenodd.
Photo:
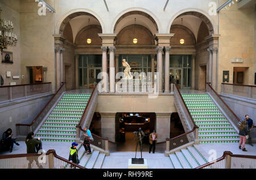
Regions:
M 42 141 L 73 142 L 90 94 L 65 93 L 36 133 Z

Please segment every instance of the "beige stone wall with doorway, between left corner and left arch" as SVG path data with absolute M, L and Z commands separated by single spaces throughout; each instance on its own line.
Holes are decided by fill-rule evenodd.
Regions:
M 46 82 L 52 82 L 54 91 L 54 14 L 47 11 L 46 16 L 39 16 L 38 9 L 34 1 L 23 0 L 20 3 L 20 60 L 21 72 L 24 74 L 22 83 L 29 83 L 27 66 L 43 66 L 47 68 Z

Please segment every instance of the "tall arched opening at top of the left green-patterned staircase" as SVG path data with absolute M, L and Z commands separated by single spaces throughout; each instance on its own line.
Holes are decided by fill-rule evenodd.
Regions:
M 102 40 L 98 36 L 101 33 L 101 23 L 88 12 L 74 12 L 60 24 L 59 34 L 65 39 L 63 68 L 67 89 L 96 83 L 102 64 Z

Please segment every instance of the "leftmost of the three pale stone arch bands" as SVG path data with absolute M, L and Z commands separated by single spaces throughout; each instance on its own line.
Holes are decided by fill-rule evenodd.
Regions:
M 98 22 L 100 22 L 101 24 L 101 28 L 102 28 L 102 33 L 104 33 L 105 31 L 105 26 L 104 26 L 104 22 L 102 21 L 102 19 L 100 18 L 100 16 L 98 16 L 95 12 L 90 11 L 88 9 L 75 9 L 72 11 L 69 11 L 67 14 L 65 14 L 62 18 L 59 19 L 59 22 L 56 25 L 55 28 L 55 34 L 63 34 L 63 31 L 65 29 L 65 26 L 68 24 L 68 22 L 75 18 L 76 16 L 80 16 L 80 15 L 89 15 L 92 16 L 93 18 L 97 19 Z

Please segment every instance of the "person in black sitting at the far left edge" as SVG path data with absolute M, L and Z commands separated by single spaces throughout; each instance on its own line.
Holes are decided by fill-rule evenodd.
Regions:
M 12 137 L 13 131 L 11 128 L 7 129 L 2 135 L 2 145 L 4 150 L 10 150 L 10 153 L 13 152 L 13 145 L 19 145 Z

